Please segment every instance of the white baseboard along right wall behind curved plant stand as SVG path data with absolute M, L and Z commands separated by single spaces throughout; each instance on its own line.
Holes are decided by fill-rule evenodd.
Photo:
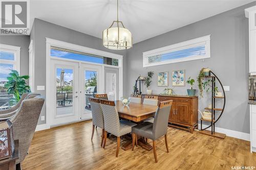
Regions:
M 200 127 L 201 127 L 201 124 L 198 124 L 198 128 L 200 128 Z M 203 128 L 206 128 L 206 127 L 207 127 L 207 125 L 203 124 Z M 208 128 L 207 130 L 211 130 L 211 128 Z M 227 136 L 230 136 L 230 137 L 250 141 L 250 134 L 249 133 L 233 131 L 233 130 L 218 128 L 218 127 L 215 127 L 215 132 L 224 133 L 224 134 L 226 134 Z

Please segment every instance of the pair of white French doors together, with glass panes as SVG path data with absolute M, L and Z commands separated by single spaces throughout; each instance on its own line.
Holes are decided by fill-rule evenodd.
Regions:
M 92 118 L 89 98 L 103 93 L 103 66 L 51 60 L 50 127 Z

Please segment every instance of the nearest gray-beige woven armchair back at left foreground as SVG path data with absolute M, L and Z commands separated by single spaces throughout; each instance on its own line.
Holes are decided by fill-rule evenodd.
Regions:
M 16 160 L 16 164 L 19 164 L 19 166 L 28 153 L 44 102 L 44 96 L 41 95 L 37 95 L 32 99 L 25 99 L 18 108 L 17 113 L 10 119 L 14 139 L 19 140 L 19 159 Z

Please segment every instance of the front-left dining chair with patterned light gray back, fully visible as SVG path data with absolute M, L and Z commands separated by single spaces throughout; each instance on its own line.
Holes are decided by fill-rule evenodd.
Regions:
M 107 133 L 111 133 L 117 136 L 116 157 L 118 157 L 120 148 L 120 136 L 131 133 L 132 127 L 136 126 L 136 124 L 127 122 L 126 120 L 119 120 L 114 101 L 101 99 L 100 106 L 102 108 L 104 117 L 104 142 L 102 147 L 105 148 Z

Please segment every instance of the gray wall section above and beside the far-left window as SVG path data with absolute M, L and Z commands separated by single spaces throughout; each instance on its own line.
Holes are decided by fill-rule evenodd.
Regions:
M 0 43 L 20 46 L 20 75 L 29 75 L 29 36 L 0 35 Z

